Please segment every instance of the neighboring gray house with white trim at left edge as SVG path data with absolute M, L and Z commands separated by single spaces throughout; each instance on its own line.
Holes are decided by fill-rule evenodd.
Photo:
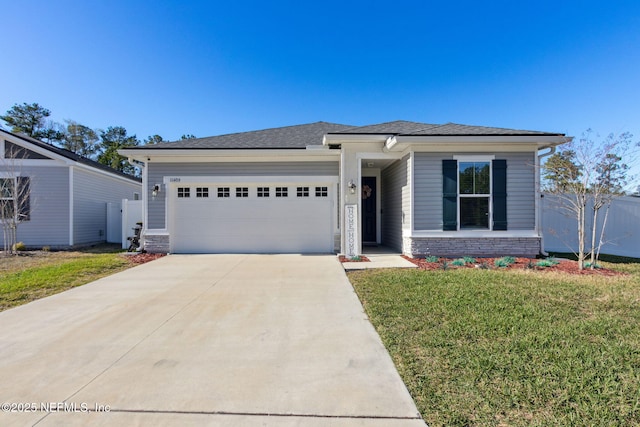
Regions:
M 106 240 L 107 203 L 139 198 L 138 178 L 26 135 L 0 129 L 0 199 L 24 194 L 17 241 L 64 249 Z M 11 188 L 16 189 L 10 190 Z M 19 196 L 18 196 L 19 197 Z M 10 204 L 10 203 L 9 203 Z

